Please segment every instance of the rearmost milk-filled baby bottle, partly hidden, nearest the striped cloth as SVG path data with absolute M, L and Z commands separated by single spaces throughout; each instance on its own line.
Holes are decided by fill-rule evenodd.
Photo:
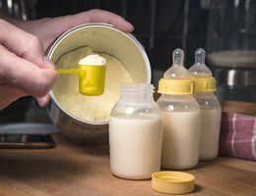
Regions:
M 222 109 L 214 92 L 216 79 L 205 65 L 206 52 L 199 48 L 195 52 L 195 64 L 189 69 L 194 82 L 197 102 L 202 110 L 200 161 L 212 160 L 219 151 Z

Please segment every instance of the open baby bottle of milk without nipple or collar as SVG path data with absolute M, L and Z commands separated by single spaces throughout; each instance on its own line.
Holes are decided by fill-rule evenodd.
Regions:
M 110 114 L 110 171 L 121 178 L 148 179 L 160 171 L 161 114 L 152 84 L 122 84 Z

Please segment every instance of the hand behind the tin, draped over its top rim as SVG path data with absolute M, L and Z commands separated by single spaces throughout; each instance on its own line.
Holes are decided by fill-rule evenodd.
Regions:
M 42 42 L 43 49 L 47 50 L 63 32 L 76 25 L 89 23 L 111 24 L 126 32 L 131 32 L 134 29 L 133 25 L 122 17 L 97 9 L 65 17 L 23 22 L 18 24 L 18 26 L 36 35 Z

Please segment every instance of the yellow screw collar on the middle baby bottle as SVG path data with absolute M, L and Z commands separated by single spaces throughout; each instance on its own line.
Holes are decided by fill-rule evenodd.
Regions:
M 160 94 L 170 95 L 192 95 L 193 88 L 193 81 L 190 79 L 178 80 L 161 78 L 158 92 Z

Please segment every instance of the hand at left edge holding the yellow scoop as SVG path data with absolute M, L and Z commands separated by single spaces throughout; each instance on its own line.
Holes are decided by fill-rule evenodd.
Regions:
M 0 19 L 0 110 L 23 96 L 47 105 L 57 79 L 38 38 Z

